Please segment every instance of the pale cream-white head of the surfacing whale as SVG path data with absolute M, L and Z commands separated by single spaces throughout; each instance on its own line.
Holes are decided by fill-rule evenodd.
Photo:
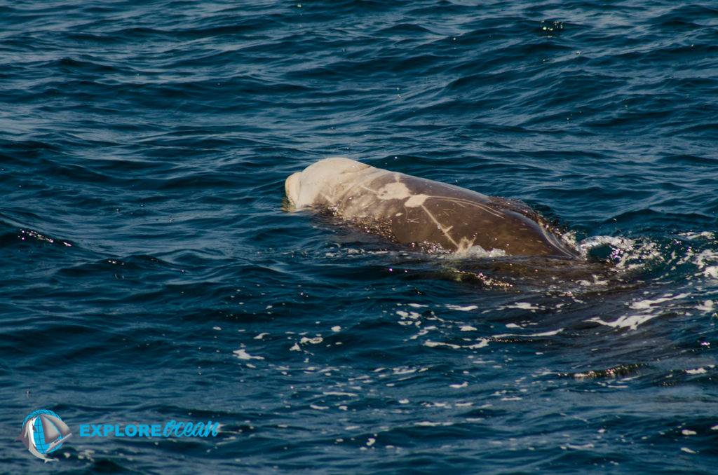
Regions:
M 360 175 L 368 175 L 372 171 L 378 169 L 359 161 L 332 157 L 292 174 L 284 182 L 284 191 L 296 210 L 317 202 L 334 204 L 336 197 L 345 191 L 348 182 L 355 183 Z

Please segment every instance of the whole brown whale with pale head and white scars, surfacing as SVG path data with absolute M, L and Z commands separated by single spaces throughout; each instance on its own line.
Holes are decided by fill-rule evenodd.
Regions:
M 297 171 L 285 180 L 284 191 L 289 211 L 328 213 L 402 245 L 579 258 L 548 220 L 519 200 L 344 157 L 322 159 Z

